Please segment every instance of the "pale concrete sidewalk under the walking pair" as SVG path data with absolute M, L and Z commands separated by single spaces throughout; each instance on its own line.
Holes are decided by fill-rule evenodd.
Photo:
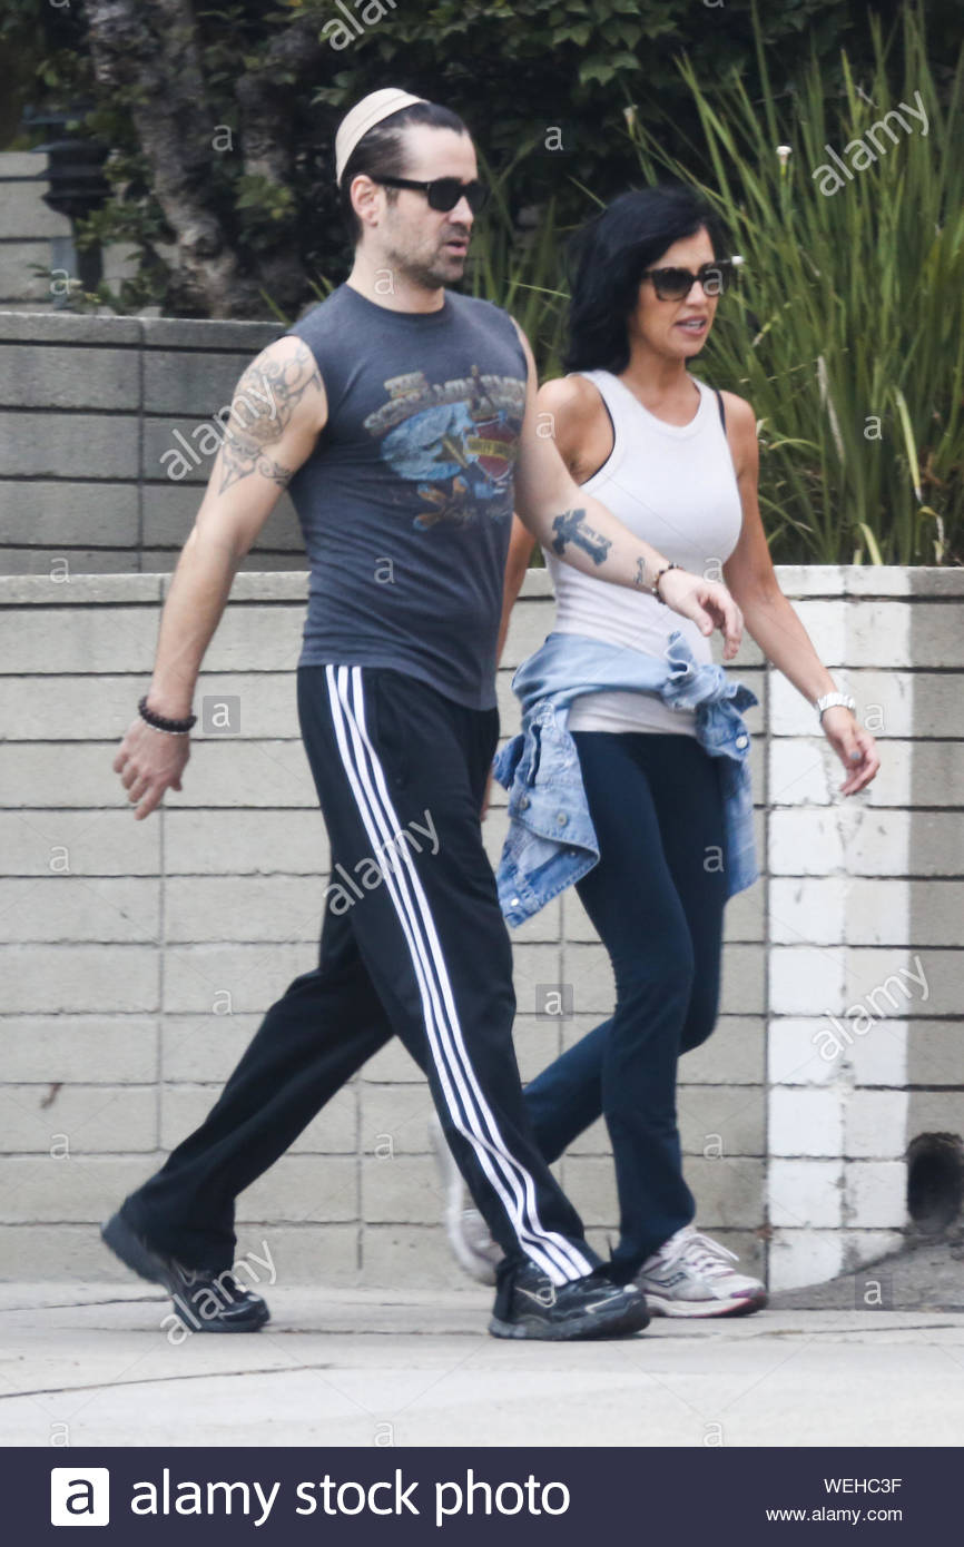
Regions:
M 491 1295 L 272 1289 L 169 1341 L 150 1286 L 0 1284 L 0 1445 L 961 1445 L 964 1313 L 764 1310 L 504 1343 Z

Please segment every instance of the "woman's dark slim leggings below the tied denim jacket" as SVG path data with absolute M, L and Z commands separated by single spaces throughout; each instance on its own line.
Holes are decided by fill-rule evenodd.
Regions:
M 723 795 L 695 736 L 576 730 L 573 739 L 599 838 L 599 863 L 577 891 L 613 962 L 616 1010 L 526 1088 L 526 1103 L 548 1160 L 605 1115 L 620 1208 L 613 1276 L 625 1281 L 695 1214 L 676 1060 L 716 1019 Z

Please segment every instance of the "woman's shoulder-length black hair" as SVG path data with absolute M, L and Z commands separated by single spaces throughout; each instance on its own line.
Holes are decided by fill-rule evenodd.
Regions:
M 576 232 L 566 248 L 571 300 L 565 371 L 603 370 L 617 376 L 627 368 L 627 323 L 644 271 L 675 241 L 702 227 L 713 257 L 720 257 L 724 234 L 716 215 L 679 183 L 620 193 Z

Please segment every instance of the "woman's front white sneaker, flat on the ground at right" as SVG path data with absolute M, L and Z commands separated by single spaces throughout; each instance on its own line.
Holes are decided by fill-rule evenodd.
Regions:
M 766 1306 L 758 1278 L 735 1273 L 735 1252 L 687 1225 L 665 1241 L 636 1275 L 656 1316 L 746 1316 Z

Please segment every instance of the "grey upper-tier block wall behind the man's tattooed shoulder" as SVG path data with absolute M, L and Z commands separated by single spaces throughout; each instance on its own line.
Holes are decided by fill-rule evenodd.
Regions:
M 283 331 L 0 312 L 0 574 L 173 569 L 217 452 L 203 432 Z M 241 569 L 305 569 L 288 495 Z

